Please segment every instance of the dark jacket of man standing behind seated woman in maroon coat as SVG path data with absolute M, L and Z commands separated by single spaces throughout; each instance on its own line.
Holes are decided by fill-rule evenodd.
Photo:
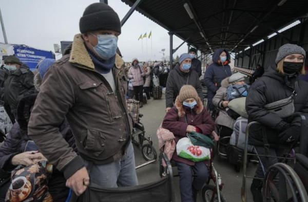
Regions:
M 198 73 L 190 68 L 189 72 L 182 72 L 177 65 L 169 73 L 166 85 L 166 108 L 173 107 L 180 89 L 183 85 L 195 87 L 201 100 L 203 100 L 202 86 Z

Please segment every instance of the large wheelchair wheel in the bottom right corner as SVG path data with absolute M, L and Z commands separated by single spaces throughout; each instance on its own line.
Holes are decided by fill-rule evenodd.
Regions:
M 307 201 L 308 195 L 301 179 L 286 164 L 277 163 L 269 167 L 264 180 L 263 201 Z

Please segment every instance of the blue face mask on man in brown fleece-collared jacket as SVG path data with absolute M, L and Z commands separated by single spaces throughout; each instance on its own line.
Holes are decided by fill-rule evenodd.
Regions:
M 115 55 L 115 51 L 117 51 L 118 47 L 118 37 L 112 34 L 97 35 L 97 37 L 98 37 L 98 45 L 93 47 L 95 52 L 105 60 Z

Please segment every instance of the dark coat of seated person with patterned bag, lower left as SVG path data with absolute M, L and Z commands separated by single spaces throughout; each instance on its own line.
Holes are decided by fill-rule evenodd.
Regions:
M 15 168 L 11 164 L 11 159 L 14 155 L 23 153 L 26 149 L 28 140 L 31 140 L 27 135 L 27 125 L 30 117 L 30 108 L 34 105 L 36 94 L 29 95 L 20 100 L 17 108 L 18 120 L 13 125 L 11 131 L 5 139 L 4 144 L 0 148 L 0 169 L 2 174 L 7 173 L 10 176 L 10 172 Z M 59 127 L 59 130 L 66 139 L 66 142 L 70 147 L 77 151 L 75 147 L 75 139 L 72 131 L 66 122 L 66 120 Z M 4 177 L 2 175 L 2 177 Z M 53 170 L 51 179 L 48 183 L 49 192 L 53 198 L 53 201 L 65 201 L 68 195 L 68 188 L 65 186 L 66 179 L 59 170 Z

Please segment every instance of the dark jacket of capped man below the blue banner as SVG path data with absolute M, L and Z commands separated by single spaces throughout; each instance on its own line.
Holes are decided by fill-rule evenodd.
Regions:
M 26 65 L 22 65 L 15 72 L 10 73 L 4 83 L 4 102 L 16 113 L 19 100 L 35 92 L 33 84 L 34 74 Z

